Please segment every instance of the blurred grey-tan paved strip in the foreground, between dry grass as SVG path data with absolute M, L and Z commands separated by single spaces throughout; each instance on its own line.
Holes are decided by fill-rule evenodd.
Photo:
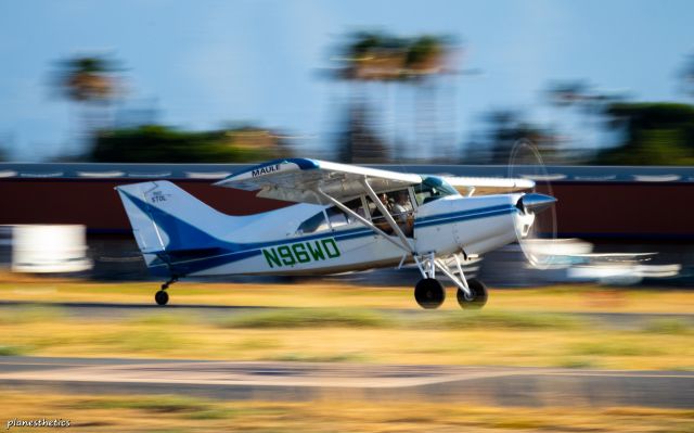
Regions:
M 0 389 L 223 399 L 426 399 L 694 407 L 694 372 L 106 358 L 0 358 Z

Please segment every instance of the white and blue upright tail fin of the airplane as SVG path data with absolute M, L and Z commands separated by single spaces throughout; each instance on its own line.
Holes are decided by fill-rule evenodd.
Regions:
M 166 180 L 124 184 L 116 191 L 145 256 L 217 249 L 223 243 L 219 231 L 228 231 L 237 218 L 211 208 Z

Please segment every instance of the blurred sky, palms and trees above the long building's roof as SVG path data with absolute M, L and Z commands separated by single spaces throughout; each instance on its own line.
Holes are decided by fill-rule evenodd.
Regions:
M 9 162 L 690 165 L 692 5 L 2 5 Z

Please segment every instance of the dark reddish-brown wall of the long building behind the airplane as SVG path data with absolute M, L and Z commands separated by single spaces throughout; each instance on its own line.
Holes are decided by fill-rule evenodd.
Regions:
M 129 179 L 138 182 L 147 179 Z M 114 187 L 124 180 L 0 179 L 0 225 L 81 224 L 91 232 L 130 230 Z M 208 180 L 176 183 L 230 215 L 270 211 L 285 203 L 213 187 Z M 558 231 L 583 238 L 694 240 L 694 183 L 555 182 Z

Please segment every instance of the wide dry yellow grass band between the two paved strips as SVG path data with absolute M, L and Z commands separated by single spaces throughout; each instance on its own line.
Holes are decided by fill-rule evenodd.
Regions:
M 691 369 L 694 358 L 685 324 L 660 321 L 624 330 L 571 315 L 503 310 L 179 315 L 94 321 L 27 314 L 23 321 L 0 323 L 0 354 L 676 370 Z

